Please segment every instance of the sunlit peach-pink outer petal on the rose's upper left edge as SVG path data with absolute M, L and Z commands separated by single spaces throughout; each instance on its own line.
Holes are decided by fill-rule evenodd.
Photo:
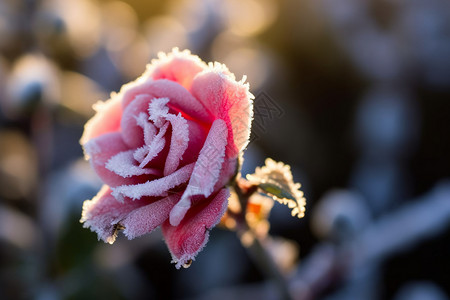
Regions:
M 111 99 L 108 101 L 97 102 L 93 108 L 97 113 L 84 126 L 83 136 L 80 139 L 81 145 L 104 133 L 118 131 L 120 128 L 122 106 L 121 99 L 116 94 L 111 94 Z

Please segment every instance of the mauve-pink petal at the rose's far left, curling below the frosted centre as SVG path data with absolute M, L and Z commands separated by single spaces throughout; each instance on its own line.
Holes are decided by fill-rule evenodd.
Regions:
M 124 178 L 106 167 L 106 164 L 113 156 L 128 150 L 128 146 L 124 143 L 120 132 L 105 133 L 91 139 L 84 146 L 84 150 L 90 157 L 90 163 L 95 172 L 107 185 L 113 187 L 141 182 L 137 177 Z

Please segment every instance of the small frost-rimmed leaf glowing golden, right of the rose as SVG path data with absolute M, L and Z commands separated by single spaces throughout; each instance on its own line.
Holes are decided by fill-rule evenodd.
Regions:
M 282 162 L 266 159 L 266 165 L 257 167 L 254 174 L 247 175 L 250 183 L 257 185 L 265 194 L 292 209 L 292 216 L 305 215 L 306 200 L 300 184 L 294 183 L 291 167 Z

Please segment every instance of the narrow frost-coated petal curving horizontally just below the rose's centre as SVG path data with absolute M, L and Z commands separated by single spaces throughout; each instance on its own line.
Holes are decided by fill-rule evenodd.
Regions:
M 140 199 L 143 196 L 166 196 L 166 193 L 188 181 L 194 169 L 194 163 L 186 165 L 174 173 L 160 179 L 147 181 L 146 183 L 134 185 L 122 185 L 112 188 L 112 195 L 119 201 L 124 197 L 129 197 L 133 200 Z

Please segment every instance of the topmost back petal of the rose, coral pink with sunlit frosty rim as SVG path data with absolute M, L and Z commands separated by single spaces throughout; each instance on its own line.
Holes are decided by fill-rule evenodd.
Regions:
M 153 60 L 147 66 L 144 76 L 152 79 L 169 79 L 176 81 L 187 90 L 191 87 L 192 80 L 197 73 L 207 68 L 206 64 L 188 50 L 182 52 L 174 48 L 171 53 L 159 53 L 159 59 Z

